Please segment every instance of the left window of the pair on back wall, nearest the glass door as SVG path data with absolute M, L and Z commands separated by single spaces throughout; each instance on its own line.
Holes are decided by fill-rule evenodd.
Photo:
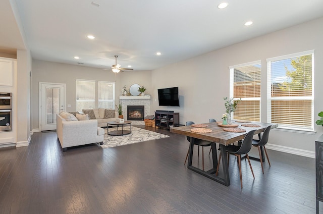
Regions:
M 95 81 L 76 80 L 76 111 L 95 108 Z

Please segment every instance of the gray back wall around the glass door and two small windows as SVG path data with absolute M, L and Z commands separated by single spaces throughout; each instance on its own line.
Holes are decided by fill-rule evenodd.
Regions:
M 134 83 L 145 85 L 147 92 L 149 93 L 151 84 L 149 71 L 126 71 L 115 75 L 110 70 L 33 60 L 32 129 L 40 128 L 38 124 L 39 82 L 66 84 L 66 111 L 74 112 L 76 106 L 75 79 L 115 82 L 116 104 L 119 103 L 119 96 L 124 85 L 126 85 L 127 88 Z M 71 104 L 71 108 L 67 108 L 67 104 Z

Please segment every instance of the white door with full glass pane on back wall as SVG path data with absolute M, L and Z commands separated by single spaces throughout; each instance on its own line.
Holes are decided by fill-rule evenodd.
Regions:
M 65 110 L 65 85 L 39 83 L 41 131 L 56 130 L 56 114 Z

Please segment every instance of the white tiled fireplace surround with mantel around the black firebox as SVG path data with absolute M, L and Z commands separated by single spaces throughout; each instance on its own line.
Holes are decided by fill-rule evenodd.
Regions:
M 144 105 L 145 117 L 150 114 L 150 96 L 120 96 L 122 112 L 125 121 L 127 120 L 127 105 Z M 133 125 L 145 125 L 144 121 L 131 121 Z

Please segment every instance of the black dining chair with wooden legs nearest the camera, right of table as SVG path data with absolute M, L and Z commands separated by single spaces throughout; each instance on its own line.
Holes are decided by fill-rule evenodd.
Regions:
M 251 173 L 252 173 L 252 176 L 253 176 L 253 179 L 254 179 L 254 174 L 253 174 L 253 170 L 252 170 L 249 155 L 248 155 L 248 152 L 251 150 L 251 147 L 252 147 L 252 138 L 253 138 L 254 132 L 255 132 L 255 130 L 249 131 L 246 134 L 246 136 L 243 138 L 240 145 L 237 145 L 237 146 L 236 145 L 225 146 L 225 151 L 221 151 L 220 156 L 219 156 L 219 162 L 218 162 L 217 172 L 216 172 L 217 176 L 218 176 L 218 173 L 219 173 L 219 167 L 220 167 L 221 153 L 222 152 L 226 152 L 228 154 L 228 165 L 229 165 L 229 154 L 234 154 L 236 157 L 238 157 L 238 166 L 239 166 L 239 172 L 240 172 L 241 189 L 242 189 L 241 154 L 246 155 L 246 157 L 248 159 L 248 162 L 249 162 L 250 170 L 251 170 Z

